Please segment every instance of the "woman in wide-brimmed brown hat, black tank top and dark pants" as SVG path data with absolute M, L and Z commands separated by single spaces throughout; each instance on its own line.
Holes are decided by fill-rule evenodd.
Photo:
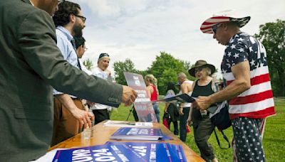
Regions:
M 214 65 L 207 64 L 204 60 L 198 60 L 195 63 L 195 67 L 188 71 L 190 75 L 197 78 L 192 85 L 192 97 L 209 96 L 214 93 L 211 77 L 214 71 Z M 193 126 L 195 142 L 201 157 L 205 161 L 217 161 L 217 158 L 214 156 L 214 150 L 211 144 L 208 143 L 209 137 L 214 131 L 214 125 L 209 119 L 209 112 L 191 108 L 187 123 Z

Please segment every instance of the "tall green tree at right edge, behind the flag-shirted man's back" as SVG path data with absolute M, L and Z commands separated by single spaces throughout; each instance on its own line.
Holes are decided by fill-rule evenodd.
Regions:
M 255 36 L 266 48 L 274 96 L 285 96 L 285 21 L 259 26 Z

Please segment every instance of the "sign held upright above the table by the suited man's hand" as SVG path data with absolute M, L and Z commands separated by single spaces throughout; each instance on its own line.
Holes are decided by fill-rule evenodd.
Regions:
M 142 75 L 131 72 L 124 72 L 124 75 L 128 86 L 138 93 L 138 97 L 134 102 L 138 119 L 142 122 L 157 122 L 155 110 L 153 110 L 152 102 L 150 102 L 150 97 L 147 95 L 145 80 L 143 80 Z

